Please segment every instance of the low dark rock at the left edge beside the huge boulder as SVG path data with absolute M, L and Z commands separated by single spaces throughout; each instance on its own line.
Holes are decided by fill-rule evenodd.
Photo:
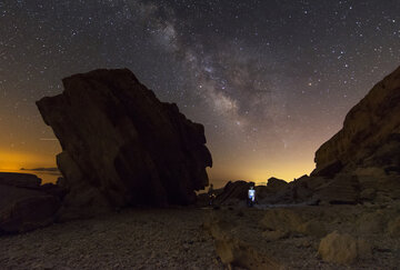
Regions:
M 54 221 L 60 191 L 40 183 L 32 174 L 0 173 L 0 233 L 29 231 Z

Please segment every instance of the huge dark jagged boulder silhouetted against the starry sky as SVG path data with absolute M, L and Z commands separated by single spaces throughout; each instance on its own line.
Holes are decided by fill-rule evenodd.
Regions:
M 127 70 L 63 79 L 62 94 L 37 102 L 59 139 L 63 210 L 188 204 L 208 184 L 204 129 L 160 102 Z

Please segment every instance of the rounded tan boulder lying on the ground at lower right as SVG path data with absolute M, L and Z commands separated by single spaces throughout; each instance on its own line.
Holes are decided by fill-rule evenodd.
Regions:
M 358 259 L 370 258 L 372 249 L 363 239 L 333 231 L 321 240 L 318 253 L 324 261 L 350 264 Z

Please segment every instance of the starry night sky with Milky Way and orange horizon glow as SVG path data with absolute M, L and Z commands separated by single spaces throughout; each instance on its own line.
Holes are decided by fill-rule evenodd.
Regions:
M 0 0 L 0 169 L 56 166 L 62 78 L 129 68 L 204 124 L 214 182 L 292 180 L 399 64 L 397 0 Z

